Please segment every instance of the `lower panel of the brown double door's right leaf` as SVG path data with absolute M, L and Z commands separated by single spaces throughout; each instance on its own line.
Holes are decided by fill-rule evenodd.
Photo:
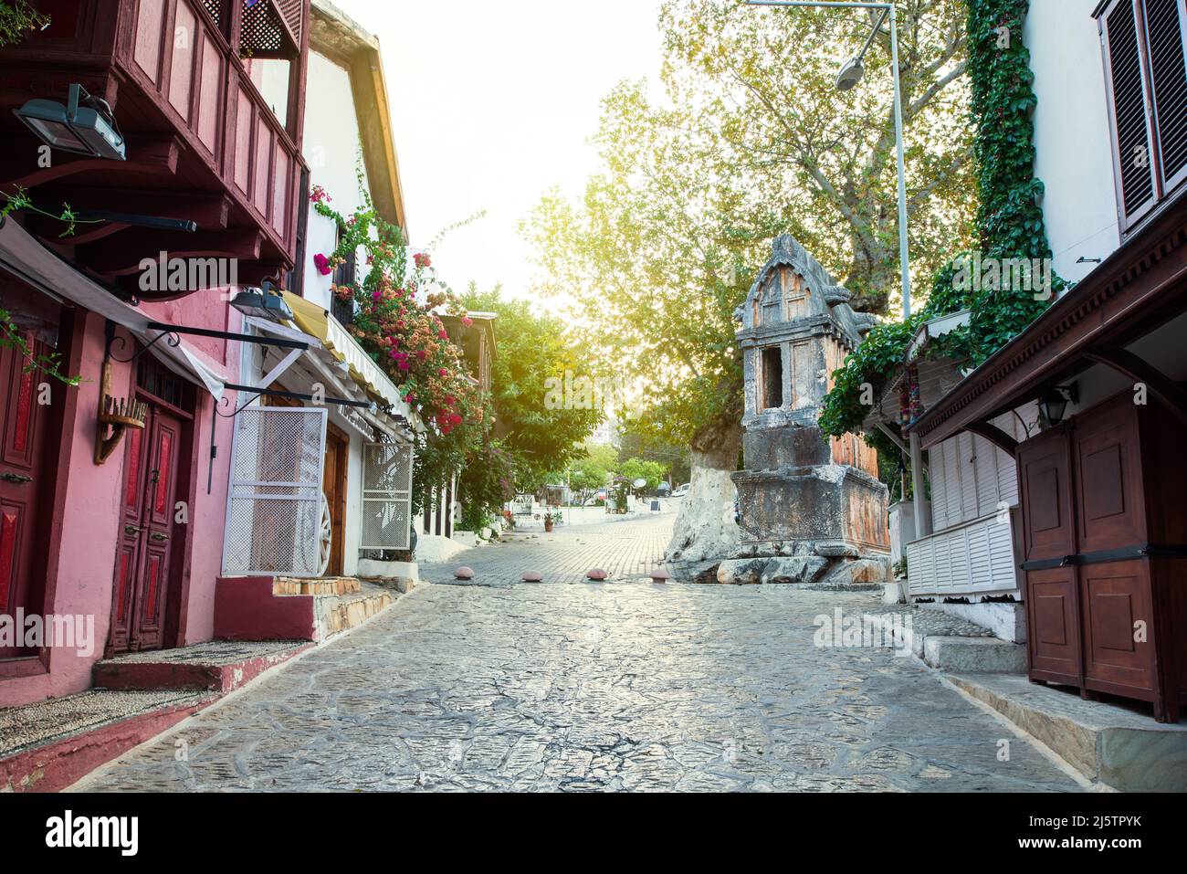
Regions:
M 1145 559 L 1080 568 L 1085 678 L 1154 691 L 1154 621 Z M 1141 626 L 1138 625 L 1141 623 Z

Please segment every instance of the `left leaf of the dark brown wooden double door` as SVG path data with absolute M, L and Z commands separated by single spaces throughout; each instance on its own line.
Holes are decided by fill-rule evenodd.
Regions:
M 1083 685 L 1071 439 L 1066 429 L 1018 446 L 1030 676 Z

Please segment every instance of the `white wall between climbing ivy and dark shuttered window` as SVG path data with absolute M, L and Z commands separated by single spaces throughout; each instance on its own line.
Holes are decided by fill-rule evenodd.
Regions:
M 1032 0 L 1023 39 L 1035 74 L 1035 175 L 1055 271 L 1080 280 L 1119 245 L 1098 0 Z

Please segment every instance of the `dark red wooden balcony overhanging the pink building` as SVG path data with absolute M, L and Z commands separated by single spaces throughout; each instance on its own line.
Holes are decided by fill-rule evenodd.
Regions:
M 307 167 L 300 156 L 309 0 L 36 0 L 44 32 L 0 51 L 0 185 L 55 211 L 189 220 L 196 232 L 104 221 L 61 238 L 61 222 L 21 221 L 81 268 L 137 291 L 139 264 L 236 259 L 239 281 L 283 278 L 297 255 Z M 104 99 L 127 160 L 53 151 L 12 109 L 65 103 L 71 83 Z

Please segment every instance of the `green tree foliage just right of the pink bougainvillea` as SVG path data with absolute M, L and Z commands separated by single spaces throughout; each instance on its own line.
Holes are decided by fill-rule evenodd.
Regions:
M 502 296 L 497 286 L 480 292 L 474 285 L 461 304 L 471 312 L 495 312 L 499 349 L 491 367 L 495 431 L 514 460 L 515 488 L 535 492 L 554 471 L 582 455 L 582 443 L 602 422 L 602 411 L 566 408 L 548 403 L 550 380 L 564 382 L 572 373 L 598 375 L 590 347 L 579 342 L 559 318 L 537 315 L 526 300 Z M 553 408 L 550 408 L 553 407 Z

